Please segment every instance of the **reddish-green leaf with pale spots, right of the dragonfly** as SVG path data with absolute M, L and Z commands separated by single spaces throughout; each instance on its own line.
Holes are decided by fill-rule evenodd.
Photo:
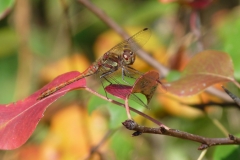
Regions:
M 220 51 L 203 51 L 189 62 L 183 76 L 164 84 L 167 91 L 178 96 L 190 96 L 220 82 L 235 81 L 230 56 Z

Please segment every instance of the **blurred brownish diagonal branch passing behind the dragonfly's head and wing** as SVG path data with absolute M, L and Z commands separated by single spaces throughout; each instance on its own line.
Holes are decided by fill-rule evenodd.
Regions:
M 96 7 L 89 0 L 78 0 L 79 3 L 83 4 L 86 8 L 88 8 L 92 13 L 94 13 L 98 18 L 100 18 L 104 23 L 106 23 L 110 28 L 115 30 L 123 39 L 129 38 L 127 32 L 125 32 L 116 22 L 114 22 L 104 11 Z M 158 61 L 152 58 L 148 53 L 143 50 L 139 50 L 137 52 L 139 57 L 144 59 L 148 64 L 152 65 L 156 68 L 164 77 L 168 73 L 168 69 L 161 65 Z

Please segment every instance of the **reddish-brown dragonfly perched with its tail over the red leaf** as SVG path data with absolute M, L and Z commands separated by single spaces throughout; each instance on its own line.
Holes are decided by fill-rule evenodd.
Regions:
M 55 87 L 49 88 L 41 93 L 38 97 L 38 100 L 44 99 L 45 97 L 48 97 L 58 90 L 64 88 L 65 86 L 91 75 L 98 75 L 100 79 L 104 79 L 110 84 L 119 83 L 118 80 L 114 78 L 113 74 L 119 70 L 121 72 L 122 80 L 129 85 L 129 82 L 125 80 L 126 76 L 135 78 L 135 75 L 141 75 L 141 72 L 132 68 L 131 65 L 133 65 L 135 62 L 136 52 L 140 49 L 141 46 L 146 44 L 150 36 L 151 32 L 148 28 L 142 29 L 130 38 L 122 41 L 107 51 L 98 60 L 93 62 L 92 65 L 90 65 L 79 76 L 63 82 Z

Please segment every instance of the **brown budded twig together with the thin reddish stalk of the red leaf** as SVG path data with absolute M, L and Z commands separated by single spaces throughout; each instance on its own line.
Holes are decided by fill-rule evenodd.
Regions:
M 91 90 L 90 88 L 85 88 L 85 89 L 106 101 L 109 101 L 111 103 L 117 104 L 117 105 L 125 108 L 125 105 L 122 103 L 108 99 L 108 98 L 102 96 L 101 94 Z M 207 137 L 194 135 L 194 134 L 183 132 L 183 131 L 176 130 L 176 129 L 170 129 L 167 126 L 165 126 L 164 124 L 162 124 L 161 122 L 157 121 L 156 119 L 153 119 L 152 117 L 150 117 L 134 108 L 131 108 L 131 107 L 129 107 L 129 108 L 131 111 L 145 117 L 146 119 L 148 119 L 148 120 L 152 121 L 153 123 L 160 126 L 159 128 L 150 128 L 150 127 L 140 126 L 133 120 L 126 120 L 122 124 L 127 129 L 136 131 L 132 134 L 132 136 L 139 136 L 142 133 L 151 133 L 151 134 L 167 135 L 167 136 L 171 136 L 171 137 L 178 137 L 181 139 L 187 139 L 187 140 L 201 143 L 201 145 L 198 148 L 199 150 L 204 150 L 206 148 L 209 148 L 211 146 L 216 146 L 216 145 L 232 145 L 232 144 L 239 145 L 240 144 L 240 138 L 237 138 L 231 134 L 228 135 L 229 136 L 228 138 L 207 138 Z

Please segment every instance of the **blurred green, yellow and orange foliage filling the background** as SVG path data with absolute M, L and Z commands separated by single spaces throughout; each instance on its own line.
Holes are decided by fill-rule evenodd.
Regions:
M 189 7 L 179 3 L 162 4 L 157 0 L 92 2 L 130 34 L 144 27 L 151 28 L 152 38 L 144 47 L 151 56 L 172 70 L 168 80 L 176 79 L 179 71 L 198 52 L 197 41 L 183 44 L 184 37 L 191 33 Z M 121 41 L 114 31 L 77 1 L 14 3 L 13 0 L 0 1 L 0 14 L 8 13 L 0 21 L 2 104 L 27 97 L 64 72 L 82 72 L 99 55 Z M 65 7 L 68 14 L 64 13 Z M 5 12 L 8 8 L 10 12 Z M 237 80 L 240 80 L 239 11 L 236 0 L 217 0 L 208 8 L 199 10 L 203 48 L 217 48 L 229 53 Z M 25 21 L 28 23 L 23 23 Z M 153 69 L 141 61 L 136 62 L 134 67 L 143 72 Z M 89 77 L 87 82 L 89 87 L 99 91 L 98 88 L 102 87 L 96 79 Z M 99 92 L 104 95 L 104 92 Z M 188 104 L 222 102 L 215 96 L 200 94 L 176 98 L 166 93 L 156 95 L 151 110 L 143 107 L 140 110 L 169 127 L 206 137 L 225 137 L 213 123 L 213 119 L 217 119 L 231 134 L 240 132 L 240 112 L 236 108 L 207 106 L 200 110 Z M 147 134 L 132 138 L 131 131 L 121 128 L 125 119 L 123 108 L 85 91 L 69 93 L 48 108 L 36 132 L 24 146 L 14 151 L 1 151 L 0 159 L 83 159 L 96 145 L 102 144 L 101 140 L 112 129 L 116 130 L 114 134 L 107 136 L 91 159 L 186 160 L 197 159 L 200 155 L 197 150 L 199 144 L 195 142 Z M 134 116 L 134 119 L 142 125 L 156 127 L 142 117 Z M 210 148 L 205 159 L 237 157 L 239 148 L 236 146 L 219 146 Z

